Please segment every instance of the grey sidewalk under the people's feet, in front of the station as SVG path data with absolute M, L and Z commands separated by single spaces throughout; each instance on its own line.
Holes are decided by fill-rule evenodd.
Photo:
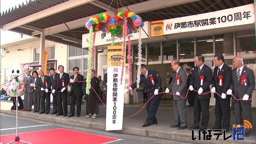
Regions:
M 0 112 L 4 114 L 16 115 L 16 112 L 10 110 L 10 106 L 12 103 L 8 101 L 1 101 Z M 133 104 L 133 105 L 124 105 L 124 117 L 130 116 L 136 112 L 138 112 L 142 108 L 143 104 Z M 133 116 L 132 118 L 124 119 L 123 121 L 123 130 L 112 131 L 114 133 L 123 133 L 123 134 L 131 134 L 137 136 L 146 136 L 152 138 L 161 138 L 168 140 L 177 140 L 183 142 L 192 142 L 192 143 L 201 143 L 201 144 L 236 144 L 236 143 L 244 143 L 251 144 L 256 143 L 256 131 L 253 130 L 249 137 L 245 137 L 245 140 L 233 140 L 232 137 L 228 140 L 223 140 L 223 136 L 220 136 L 218 140 L 216 140 L 216 135 L 213 135 L 211 140 L 203 140 L 203 134 L 201 132 L 201 140 L 198 140 L 198 130 L 195 130 L 194 136 L 197 137 L 196 140 L 192 140 L 192 131 L 191 130 L 177 130 L 176 128 L 170 128 L 170 125 L 174 124 L 174 114 L 172 110 L 172 105 L 160 104 L 158 112 L 156 114 L 156 118 L 158 119 L 157 125 L 151 125 L 145 128 L 142 128 L 142 124 L 144 124 L 145 119 L 147 117 L 146 110 L 142 110 L 139 114 Z M 51 108 L 52 109 L 52 108 Z M 68 106 L 68 114 L 69 114 L 69 106 Z M 51 110 L 52 111 L 52 110 Z M 55 116 L 49 114 L 38 114 L 33 112 L 19 112 L 18 115 L 26 118 L 32 118 L 36 120 L 42 120 L 47 122 L 54 122 L 59 124 L 66 124 L 70 126 L 78 126 L 84 128 L 92 128 L 98 130 L 105 130 L 105 113 L 106 109 L 104 106 L 100 105 L 100 114 L 98 114 L 97 118 L 86 118 L 85 117 L 86 105 L 82 105 L 82 114 L 80 117 L 71 117 L 68 118 L 63 116 Z M 194 120 L 193 107 L 187 108 L 187 120 L 188 127 L 192 126 Z M 210 121 L 208 124 L 208 129 L 214 127 L 214 107 L 210 108 Z M 256 120 L 256 109 L 252 109 L 252 120 L 254 120 L 252 124 L 252 128 L 255 129 L 255 120 Z M 235 124 L 234 114 L 231 114 L 230 124 Z M 230 132 L 226 134 L 230 136 L 232 134 L 232 128 L 230 128 Z M 241 137 L 241 136 L 240 136 Z M 243 137 L 243 136 L 242 136 Z

